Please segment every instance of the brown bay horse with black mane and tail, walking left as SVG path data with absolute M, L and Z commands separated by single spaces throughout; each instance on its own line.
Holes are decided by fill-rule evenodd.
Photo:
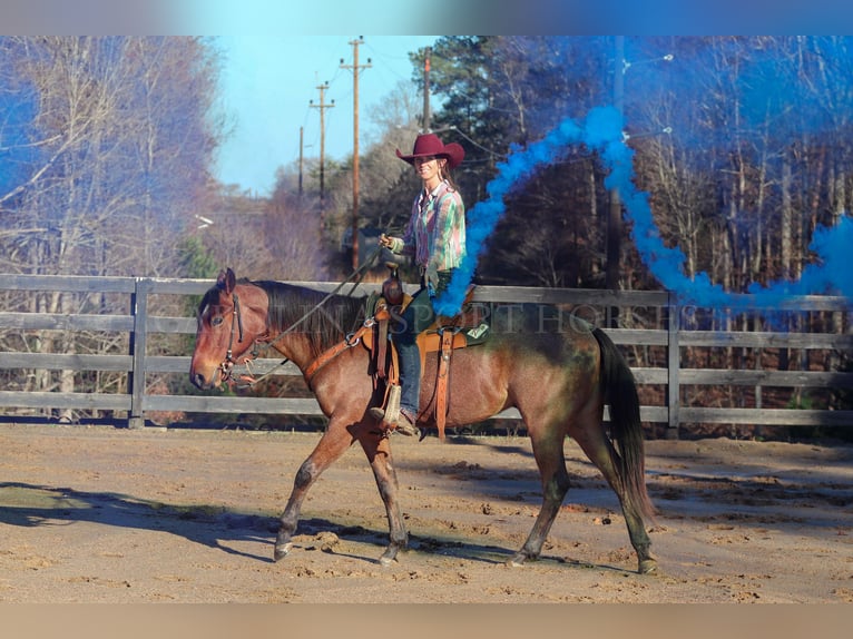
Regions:
M 351 330 L 367 320 L 364 299 L 281 282 L 238 281 L 228 268 L 199 304 L 189 367 L 198 389 L 233 383 L 232 367 L 253 358 L 262 344 L 303 374 L 315 371 L 306 380 L 329 422 L 294 478 L 275 541 L 275 561 L 292 550 L 300 510 L 312 484 L 356 441 L 373 470 L 388 515 L 390 539 L 379 562 L 390 566 L 408 547 L 391 438 L 369 413 L 376 402 L 370 353 L 352 340 Z M 540 474 L 542 503 L 527 540 L 508 563 L 522 566 L 541 553 L 569 489 L 563 443 L 570 436 L 619 498 L 638 572 L 655 572 L 657 561 L 644 521 L 654 519 L 655 509 L 646 490 L 644 433 L 630 368 L 598 327 L 572 318 L 568 330 L 543 331 L 538 306 L 512 305 L 511 309 L 511 320 L 507 313 L 500 330 L 493 330 L 483 344 L 453 352 L 445 422 L 451 429 L 464 426 L 509 407 L 521 414 Z M 322 366 L 313 365 L 323 356 Z M 421 406 L 434 391 L 437 366 L 432 357 L 424 362 Z M 606 402 L 609 436 L 604 427 Z M 434 417 L 422 413 L 418 425 L 434 426 Z

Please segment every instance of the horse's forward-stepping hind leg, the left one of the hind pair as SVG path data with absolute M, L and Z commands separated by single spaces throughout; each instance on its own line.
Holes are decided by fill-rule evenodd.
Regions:
M 542 507 L 527 541 L 524 541 L 521 550 L 510 559 L 511 566 L 521 566 L 528 559 L 539 558 L 542 552 L 542 544 L 569 490 L 569 473 L 566 470 L 562 454 L 562 433 L 551 432 L 542 438 L 537 436 L 535 431 L 530 432 L 533 456 L 542 480 Z

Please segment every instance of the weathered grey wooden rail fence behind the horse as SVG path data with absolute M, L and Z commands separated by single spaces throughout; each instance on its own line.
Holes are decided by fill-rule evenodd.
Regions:
M 333 283 L 301 283 L 315 288 L 331 291 Z M 138 427 L 146 422 L 150 412 L 186 413 L 265 413 L 320 415 L 316 402 L 311 397 L 259 397 L 225 396 L 222 393 L 163 394 L 161 389 L 153 394 L 147 379 L 165 374 L 186 374 L 189 370 L 189 352 L 148 354 L 149 342 L 156 334 L 195 334 L 195 317 L 159 316 L 154 314 L 151 299 L 158 295 L 186 297 L 199 295 L 213 283 L 198 279 L 133 278 L 133 277 L 82 277 L 82 276 L 31 276 L 0 275 L 0 336 L 9 344 L 28 343 L 27 335 L 45 331 L 108 332 L 124 335 L 126 352 L 120 354 L 42 353 L 32 348 L 13 351 L 0 350 L 0 374 L 7 380 L 22 380 L 32 371 L 101 371 L 126 374 L 126 383 L 116 392 L 35 392 L 24 389 L 23 382 L 7 384 L 0 390 L 0 410 L 7 415 L 23 415 L 26 411 L 55 410 L 101 411 L 112 415 L 126 415 L 128 425 Z M 356 295 L 366 295 L 376 285 L 362 284 Z M 45 292 L 76 293 L 81 297 L 119 296 L 126 299 L 126 312 L 33 312 L 35 305 L 26 304 L 27 296 Z M 7 302 L 8 301 L 8 302 Z M 666 292 L 611 292 L 565 288 L 527 288 L 480 286 L 474 302 L 502 305 L 537 303 L 560 305 L 570 321 L 581 316 L 598 325 L 606 325 L 611 317 L 618 318 L 618 327 L 608 328 L 608 334 L 620 345 L 631 362 L 635 377 L 640 385 L 644 405 L 641 417 L 645 422 L 661 424 L 666 436 L 677 436 L 680 425 L 702 424 L 763 424 L 839 426 L 853 424 L 853 411 L 811 407 L 766 407 L 763 397 L 768 389 L 801 390 L 808 393 L 827 389 L 850 392 L 853 389 L 853 373 L 835 370 L 853 352 L 849 302 L 840 297 L 807 296 L 787 299 L 785 312 L 803 322 L 785 321 L 782 330 L 726 330 L 715 328 L 720 318 L 728 323 L 741 323 L 739 317 L 748 314 L 733 314 L 722 308 L 697 308 L 680 306 Z M 85 308 L 91 311 L 91 308 Z M 815 332 L 815 324 L 808 318 L 815 315 L 827 317 L 826 332 Z M 748 323 L 743 320 L 743 323 Z M 724 322 L 725 323 L 725 322 Z M 818 324 L 821 324 L 818 322 Z M 798 330 L 797 325 L 810 326 Z M 638 327 L 639 326 L 639 327 Z M 192 341 L 187 341 L 192 350 Z M 683 362 L 697 350 L 705 350 L 709 363 L 703 367 L 683 367 Z M 746 365 L 737 370 L 715 367 L 719 357 L 713 353 L 748 353 L 742 357 Z M 802 362 L 803 370 L 773 370 L 766 367 L 766 355 L 793 353 L 795 362 Z M 808 354 L 818 353 L 818 364 Z M 798 357 L 797 357 L 798 354 Z M 731 360 L 731 356 L 728 357 Z M 774 357 L 772 361 L 776 361 Z M 278 365 L 281 360 L 261 360 L 253 372 L 264 373 Z M 788 366 L 790 367 L 790 366 Z M 817 370 L 815 370 L 817 368 Z M 17 372 L 17 373 L 16 373 Z M 300 375 L 293 364 L 280 366 L 276 374 Z M 752 405 L 720 405 L 718 394 L 713 404 L 694 401 L 707 393 L 698 390 L 747 389 Z M 646 392 L 644 392 L 646 391 Z M 653 397 L 653 399 L 648 399 Z M 743 402 L 741 402 L 743 403 Z M 513 410 L 504 411 L 497 417 L 518 417 Z

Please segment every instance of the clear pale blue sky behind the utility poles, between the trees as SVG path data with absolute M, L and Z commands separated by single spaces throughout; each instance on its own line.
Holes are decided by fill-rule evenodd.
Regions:
M 432 45 L 435 36 L 222 36 L 218 108 L 228 122 L 219 149 L 216 177 L 256 196 L 275 186 L 275 171 L 300 157 L 320 157 L 320 90 L 323 102 L 325 157 L 343 160 L 353 151 L 353 56 L 359 40 L 359 146 L 374 132 L 370 110 L 400 81 L 410 81 L 414 67 L 409 52 Z M 343 58 L 344 67 L 341 66 Z M 312 106 L 312 100 L 313 105 Z

